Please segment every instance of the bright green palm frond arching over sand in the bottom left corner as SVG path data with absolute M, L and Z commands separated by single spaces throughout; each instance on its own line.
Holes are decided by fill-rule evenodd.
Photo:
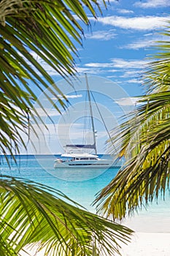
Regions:
M 118 241 L 130 241 L 130 229 L 85 211 L 58 190 L 3 177 L 0 191 L 0 244 L 6 241 L 18 255 L 26 245 L 51 256 L 114 255 Z

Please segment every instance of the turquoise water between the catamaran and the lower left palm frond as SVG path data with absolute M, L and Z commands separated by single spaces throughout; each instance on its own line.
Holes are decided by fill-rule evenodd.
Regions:
M 39 160 L 40 159 L 40 160 Z M 80 203 L 90 211 L 95 208 L 90 206 L 96 193 L 105 187 L 115 177 L 118 168 L 104 169 L 69 169 L 54 170 L 54 157 L 34 156 L 18 157 L 18 167 L 11 160 L 9 169 L 7 162 L 1 159 L 1 174 L 28 178 L 41 184 L 61 190 L 64 194 Z M 56 175 L 56 172 L 57 175 Z M 54 176 L 55 175 L 55 176 Z M 91 178 L 93 177 L 93 178 Z

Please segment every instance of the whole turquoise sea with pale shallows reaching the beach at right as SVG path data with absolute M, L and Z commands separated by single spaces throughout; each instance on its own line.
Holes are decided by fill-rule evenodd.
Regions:
M 88 211 L 96 212 L 92 206 L 96 193 L 107 186 L 117 174 L 119 168 L 104 169 L 69 169 L 54 170 L 54 159 L 58 156 L 17 156 L 18 166 L 9 157 L 10 168 L 4 157 L 0 157 L 1 175 L 27 178 L 60 190 L 72 200 L 80 203 Z M 170 196 L 166 192 L 146 209 L 134 213 L 134 217 L 127 218 L 125 224 L 138 232 L 170 232 Z M 152 224 L 152 225 L 151 225 Z

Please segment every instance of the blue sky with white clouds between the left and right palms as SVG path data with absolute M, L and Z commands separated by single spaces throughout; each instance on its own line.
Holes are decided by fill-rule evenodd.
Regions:
M 159 32 L 166 26 L 166 20 L 170 20 L 169 7 L 169 0 L 110 0 L 107 10 L 101 3 L 103 15 L 98 13 L 97 20 L 89 16 L 90 27 L 81 24 L 84 28 L 85 38 L 82 41 L 83 47 L 77 46 L 79 52 L 79 58 L 75 59 L 77 71 L 80 75 L 87 73 L 89 77 L 92 75 L 92 77 L 104 78 L 106 83 L 109 80 L 113 85 L 111 87 L 104 86 L 109 98 L 106 98 L 103 87 L 100 87 L 102 83 L 98 83 L 98 91 L 95 90 L 94 93 L 98 104 L 104 111 L 106 110 L 105 117 L 110 120 L 109 129 L 115 127 L 119 122 L 117 118 L 126 114 L 126 110 L 134 108 L 135 101 L 132 97 L 144 93 L 144 88 L 141 86 L 141 75 L 149 61 L 148 56 L 154 53 L 152 45 L 155 44 L 155 41 L 163 40 L 163 35 Z M 46 67 L 46 70 L 53 75 L 56 83 L 63 90 L 62 78 L 49 67 Z M 90 86 L 92 89 L 96 88 L 95 85 L 90 84 Z M 115 96 L 114 90 L 120 91 L 119 97 Z M 61 140 L 63 138 L 66 140 L 68 132 L 72 132 L 72 143 L 81 143 L 83 130 L 81 115 L 74 118 L 74 121 L 72 118 L 70 119 L 70 116 L 75 116 L 78 110 L 82 113 L 85 91 L 81 88 L 77 90 L 76 94 L 74 91 L 66 89 L 65 94 L 68 95 L 72 104 L 72 108 L 69 108 L 69 116 L 68 114 L 65 116 L 64 123 L 61 116 L 54 112 L 53 106 L 47 105 L 47 111 L 53 117 L 55 127 L 44 116 L 49 131 L 45 132 L 46 142 L 45 145 L 39 146 L 41 148 L 40 151 L 39 149 L 37 151 L 39 154 L 62 153 L 63 141 L 58 142 L 58 136 L 61 137 Z M 110 113 L 112 118 L 109 118 Z M 63 113 L 64 115 L 66 114 Z M 107 136 L 98 119 L 96 116 L 98 152 L 103 153 Z M 63 132 L 61 134 L 59 131 L 60 135 L 58 127 Z M 66 129 L 66 127 L 69 128 Z M 34 135 L 33 140 L 36 140 Z

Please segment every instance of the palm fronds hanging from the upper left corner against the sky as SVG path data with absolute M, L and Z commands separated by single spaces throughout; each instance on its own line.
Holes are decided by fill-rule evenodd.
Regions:
M 101 9 L 95 0 L 6 0 L 0 2 L 0 7 L 0 152 L 12 154 L 14 148 L 15 153 L 20 152 L 19 142 L 26 146 L 20 132 L 29 137 L 29 117 L 35 114 L 33 107 L 39 93 L 47 90 L 45 97 L 52 104 L 49 94 L 58 99 L 58 105 L 54 105 L 57 111 L 60 106 L 66 108 L 59 96 L 66 99 L 62 88 L 55 85 L 46 66 L 68 80 L 76 74 L 76 46 L 82 45 L 83 37 L 77 20 L 89 26 L 85 10 L 96 17 Z M 45 111 L 41 102 L 39 106 Z

